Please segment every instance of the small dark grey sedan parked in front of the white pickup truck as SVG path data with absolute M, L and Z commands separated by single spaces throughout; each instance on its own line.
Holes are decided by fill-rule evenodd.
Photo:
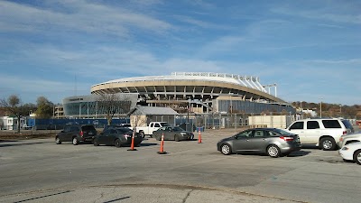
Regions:
M 174 140 L 176 142 L 180 142 L 181 140 L 193 140 L 194 138 L 193 133 L 185 131 L 178 126 L 164 126 L 153 131 L 153 137 L 158 141 L 162 139 L 162 134 L 164 134 L 164 140 Z

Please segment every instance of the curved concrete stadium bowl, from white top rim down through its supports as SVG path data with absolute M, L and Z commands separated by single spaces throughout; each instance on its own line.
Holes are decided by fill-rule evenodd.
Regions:
M 290 104 L 276 97 L 275 84 L 264 86 L 258 77 L 225 73 L 173 72 L 169 76 L 119 78 L 91 87 L 91 94 L 101 93 L 138 93 L 140 104 L 171 106 L 179 113 L 190 108 L 199 114 L 292 110 Z

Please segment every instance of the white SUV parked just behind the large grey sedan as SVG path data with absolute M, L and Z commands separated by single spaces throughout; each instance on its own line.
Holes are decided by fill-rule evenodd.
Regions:
M 316 144 L 319 149 L 336 150 L 342 134 L 354 133 L 348 120 L 339 118 L 310 118 L 295 121 L 286 128 L 292 134 L 298 134 L 301 144 Z

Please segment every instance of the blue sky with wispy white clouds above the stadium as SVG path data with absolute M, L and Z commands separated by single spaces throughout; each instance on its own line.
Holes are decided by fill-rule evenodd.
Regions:
M 219 72 L 283 100 L 361 104 L 361 1 L 0 1 L 0 97 L 53 103 L 116 78 Z

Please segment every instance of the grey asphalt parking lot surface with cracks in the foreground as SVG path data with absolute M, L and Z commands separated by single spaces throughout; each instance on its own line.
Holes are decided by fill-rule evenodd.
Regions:
M 197 141 L 146 137 L 129 147 L 0 143 L 1 202 L 359 202 L 361 167 L 337 151 L 306 146 L 287 157 L 223 155 L 216 144 L 233 130 Z M 198 137 L 198 134 L 196 134 Z

